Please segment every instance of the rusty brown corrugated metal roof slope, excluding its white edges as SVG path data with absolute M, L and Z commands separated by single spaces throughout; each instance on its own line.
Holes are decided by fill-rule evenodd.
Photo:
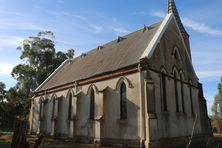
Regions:
M 148 29 L 140 29 L 124 36 L 120 42 L 111 41 L 102 45 L 100 50 L 95 48 L 84 56 L 76 57 L 67 62 L 37 91 L 138 63 L 160 24 L 161 22 L 149 26 Z

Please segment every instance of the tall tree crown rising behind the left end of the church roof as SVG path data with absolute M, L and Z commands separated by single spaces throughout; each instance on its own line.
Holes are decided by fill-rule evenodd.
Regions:
M 56 52 L 54 34 L 51 31 L 39 32 L 23 41 L 20 58 L 25 64 L 14 67 L 12 76 L 18 81 L 17 87 L 24 98 L 33 95 L 39 86 L 64 60 L 74 56 L 74 50 L 67 53 Z

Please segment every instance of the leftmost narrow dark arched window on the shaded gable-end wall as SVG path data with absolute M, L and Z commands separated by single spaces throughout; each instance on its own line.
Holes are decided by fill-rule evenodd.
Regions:
M 161 73 L 161 94 L 163 102 L 163 111 L 167 111 L 167 95 L 166 95 L 166 76 L 165 73 Z

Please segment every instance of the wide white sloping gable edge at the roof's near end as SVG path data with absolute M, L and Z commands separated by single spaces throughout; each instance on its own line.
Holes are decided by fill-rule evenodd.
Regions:
M 166 17 L 164 18 L 163 22 L 161 23 L 159 29 L 157 30 L 157 32 L 153 36 L 152 40 L 150 41 L 146 50 L 143 52 L 140 59 L 150 58 L 152 56 L 157 44 L 159 43 L 160 39 L 162 38 L 162 36 L 163 36 L 164 32 L 166 31 L 170 21 L 172 20 L 172 18 L 173 18 L 173 13 L 169 13 L 169 14 L 166 15 Z

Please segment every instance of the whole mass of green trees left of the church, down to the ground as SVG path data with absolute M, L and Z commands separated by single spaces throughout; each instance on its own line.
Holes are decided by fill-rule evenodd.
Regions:
M 20 59 L 23 61 L 11 73 L 17 84 L 5 91 L 5 84 L 0 82 L 0 127 L 13 127 L 14 121 L 26 119 L 34 90 L 63 61 L 73 58 L 73 49 L 67 53 L 56 52 L 54 39 L 53 32 L 42 31 L 23 40 L 17 48 L 21 51 Z

